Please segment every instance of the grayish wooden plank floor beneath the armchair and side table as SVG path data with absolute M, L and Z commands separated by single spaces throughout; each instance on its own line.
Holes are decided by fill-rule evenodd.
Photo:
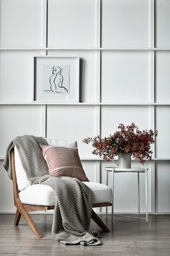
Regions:
M 105 216 L 101 216 L 106 221 Z M 0 255 L 170 255 L 170 216 L 149 216 L 148 223 L 134 218 L 115 217 L 112 229 L 108 216 L 109 233 L 101 232 L 102 246 L 63 246 L 51 235 L 52 215 L 34 215 L 33 219 L 44 234 L 34 236 L 24 220 L 14 226 L 14 215 L 0 215 Z M 91 221 L 91 229 L 98 229 Z

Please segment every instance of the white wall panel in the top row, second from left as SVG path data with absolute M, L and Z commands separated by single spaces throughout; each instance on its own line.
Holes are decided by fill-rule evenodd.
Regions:
M 96 1 L 48 0 L 48 47 L 95 46 Z

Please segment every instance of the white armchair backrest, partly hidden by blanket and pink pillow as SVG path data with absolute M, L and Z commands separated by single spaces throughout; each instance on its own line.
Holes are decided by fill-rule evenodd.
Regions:
M 67 147 L 67 148 L 77 148 L 76 140 L 52 140 L 45 139 L 48 145 L 53 145 L 55 147 Z M 26 187 L 30 186 L 31 182 L 27 179 L 24 168 L 22 167 L 21 160 L 19 158 L 19 153 L 16 147 L 14 147 L 14 159 L 15 159 L 15 171 L 17 176 L 17 184 L 19 191 L 22 191 Z

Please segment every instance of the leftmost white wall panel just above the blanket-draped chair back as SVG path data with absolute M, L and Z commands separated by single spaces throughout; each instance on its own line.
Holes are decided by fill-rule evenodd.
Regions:
M 0 108 L 0 156 L 3 158 L 6 148 L 18 135 L 40 135 L 42 133 L 42 107 L 4 105 Z

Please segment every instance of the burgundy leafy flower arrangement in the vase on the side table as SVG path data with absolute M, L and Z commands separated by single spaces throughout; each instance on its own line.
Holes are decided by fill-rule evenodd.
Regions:
M 104 160 L 113 161 L 119 153 L 130 153 L 139 163 L 145 163 L 146 159 L 151 160 L 151 144 L 155 142 L 158 131 L 150 130 L 140 131 L 138 127 L 132 123 L 125 127 L 119 124 L 118 130 L 109 137 L 101 138 L 87 137 L 83 140 L 86 144 L 92 143 L 94 155 L 99 155 Z

